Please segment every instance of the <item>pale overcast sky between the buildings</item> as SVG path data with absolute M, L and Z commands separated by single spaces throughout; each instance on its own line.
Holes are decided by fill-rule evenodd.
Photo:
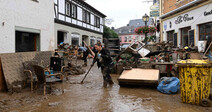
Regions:
M 131 19 L 141 19 L 147 13 L 149 15 L 151 0 L 86 0 L 88 4 L 105 14 L 106 19 L 113 19 L 109 27 L 119 28 L 126 26 Z

